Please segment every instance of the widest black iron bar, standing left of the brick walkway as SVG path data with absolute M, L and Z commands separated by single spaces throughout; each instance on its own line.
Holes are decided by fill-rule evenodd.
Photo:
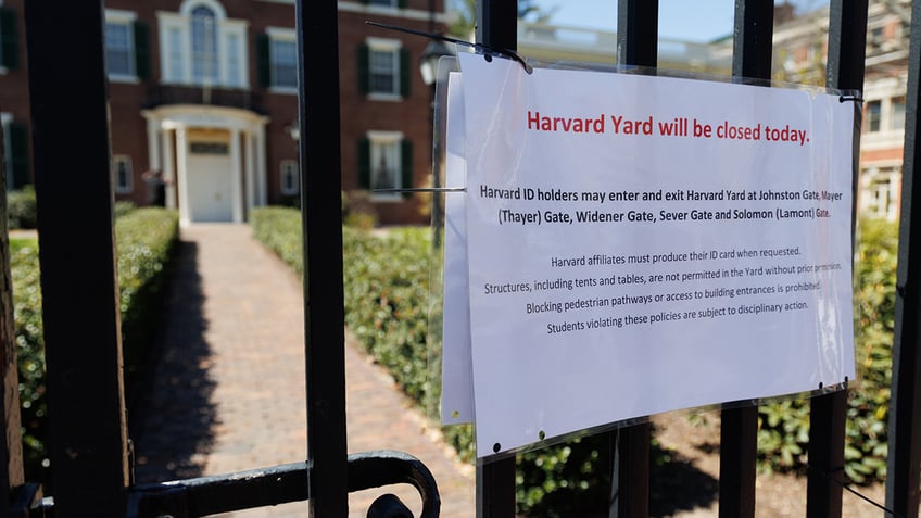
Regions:
M 128 455 L 103 8 L 25 14 L 54 514 L 115 517 Z

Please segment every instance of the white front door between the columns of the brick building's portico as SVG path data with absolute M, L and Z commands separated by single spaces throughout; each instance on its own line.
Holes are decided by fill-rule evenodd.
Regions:
M 232 222 L 232 164 L 226 143 L 190 142 L 188 154 L 189 220 Z

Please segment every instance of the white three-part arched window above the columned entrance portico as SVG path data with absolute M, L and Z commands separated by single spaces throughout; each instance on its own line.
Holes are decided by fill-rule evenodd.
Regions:
M 249 22 L 228 18 L 224 7 L 214 0 L 185 0 L 179 12 L 157 11 L 157 29 L 161 35 L 161 83 L 203 86 L 202 81 L 194 80 L 192 74 L 192 10 L 198 7 L 212 10 L 217 29 L 217 83 L 210 86 L 249 89 L 250 64 L 247 46 Z M 173 35 L 178 35 L 178 41 L 174 41 Z M 231 52 L 231 46 L 235 47 L 234 52 Z M 239 60 L 232 66 L 231 56 Z M 237 71 L 238 77 L 231 76 L 232 71 Z

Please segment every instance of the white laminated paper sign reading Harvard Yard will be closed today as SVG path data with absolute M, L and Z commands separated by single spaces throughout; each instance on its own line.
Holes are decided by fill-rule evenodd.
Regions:
M 853 105 L 460 61 L 479 456 L 854 378 Z

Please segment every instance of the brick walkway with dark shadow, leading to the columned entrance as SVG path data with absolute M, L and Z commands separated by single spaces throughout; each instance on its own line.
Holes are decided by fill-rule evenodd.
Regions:
M 182 229 L 155 376 L 129 416 L 138 482 L 228 473 L 306 457 L 301 282 L 244 225 Z M 354 344 L 345 351 L 349 452 L 400 450 L 434 473 L 443 517 L 475 515 L 472 468 L 450 458 L 392 380 Z M 350 518 L 374 497 L 350 495 Z M 238 513 L 306 516 L 297 503 Z

